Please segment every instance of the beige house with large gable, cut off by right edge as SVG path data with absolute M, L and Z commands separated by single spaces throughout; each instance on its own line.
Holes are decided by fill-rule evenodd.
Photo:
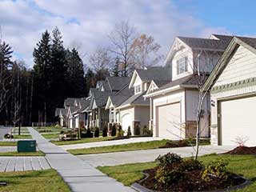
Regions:
M 256 145 L 256 38 L 234 37 L 207 79 L 210 141 L 213 145 Z

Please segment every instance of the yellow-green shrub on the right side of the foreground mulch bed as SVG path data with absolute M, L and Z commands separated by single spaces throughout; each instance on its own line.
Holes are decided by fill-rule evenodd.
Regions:
M 210 162 L 210 164 L 202 171 L 202 179 L 206 182 L 210 182 L 212 178 L 226 180 L 229 176 L 229 174 L 226 172 L 226 166 L 228 164 L 229 162 L 224 159 Z

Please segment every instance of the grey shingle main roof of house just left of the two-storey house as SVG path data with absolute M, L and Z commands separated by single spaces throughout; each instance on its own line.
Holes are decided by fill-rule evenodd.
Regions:
M 170 80 L 170 69 L 166 66 L 148 67 L 146 70 L 136 70 L 142 82 L 151 82 L 151 80 Z

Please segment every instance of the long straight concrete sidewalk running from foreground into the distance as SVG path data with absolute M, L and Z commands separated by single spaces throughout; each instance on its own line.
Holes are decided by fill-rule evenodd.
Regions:
M 46 159 L 50 166 L 57 170 L 64 181 L 70 186 L 72 191 L 105 191 L 105 192 L 130 192 L 134 191 L 130 187 L 123 186 L 113 178 L 109 178 L 106 174 L 102 174 L 93 166 L 83 162 L 76 156 L 67 153 L 59 146 L 48 142 L 38 131 L 28 128 L 30 134 L 37 140 L 39 150 L 46 154 Z

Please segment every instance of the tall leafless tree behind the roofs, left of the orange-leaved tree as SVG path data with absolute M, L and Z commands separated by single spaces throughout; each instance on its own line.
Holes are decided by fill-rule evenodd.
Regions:
M 136 35 L 134 26 L 130 26 L 128 21 L 117 24 L 114 31 L 109 35 L 112 46 L 111 53 L 119 58 L 121 63 L 122 76 L 128 76 L 130 70 L 134 69 L 132 62 L 133 46 Z

